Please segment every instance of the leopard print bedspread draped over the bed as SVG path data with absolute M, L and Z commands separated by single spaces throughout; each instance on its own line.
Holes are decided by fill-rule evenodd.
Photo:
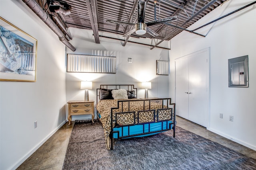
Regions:
M 138 123 L 157 121 L 157 109 L 161 109 L 162 104 L 157 104 L 151 101 L 150 108 L 149 108 L 148 100 L 145 102 L 143 100 L 142 101 L 132 101 L 132 100 L 137 100 L 137 99 L 130 99 L 130 102 L 120 102 L 119 109 L 113 109 L 113 116 L 112 116 L 113 127 L 115 126 L 115 124 L 116 125 L 133 125 Z M 111 132 L 111 117 L 110 117 L 111 108 L 116 108 L 117 104 L 118 104 L 118 100 L 100 100 L 97 104 L 97 111 L 101 115 L 100 121 L 104 129 L 105 144 L 108 150 L 110 149 L 108 141 L 110 140 L 109 135 Z M 167 108 L 167 107 L 164 106 L 163 108 Z M 134 119 L 134 112 L 135 112 L 135 119 Z M 171 109 L 159 110 L 158 121 L 167 120 L 167 119 L 171 119 Z

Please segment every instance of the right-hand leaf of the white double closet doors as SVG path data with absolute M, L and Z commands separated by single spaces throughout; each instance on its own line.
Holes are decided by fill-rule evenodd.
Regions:
M 188 58 L 188 120 L 208 127 L 208 59 L 206 53 Z

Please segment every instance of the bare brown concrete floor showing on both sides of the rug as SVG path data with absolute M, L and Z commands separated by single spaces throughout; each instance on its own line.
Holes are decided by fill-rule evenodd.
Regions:
M 183 129 L 256 159 L 255 150 L 221 137 L 220 135 L 206 130 L 204 127 L 178 116 L 176 117 L 176 120 L 178 127 L 182 127 Z M 52 135 L 52 137 L 50 137 L 50 139 L 23 162 L 17 170 L 61 170 L 73 126 L 74 121 L 72 121 L 70 126 L 68 125 L 68 122 L 65 123 L 54 135 Z

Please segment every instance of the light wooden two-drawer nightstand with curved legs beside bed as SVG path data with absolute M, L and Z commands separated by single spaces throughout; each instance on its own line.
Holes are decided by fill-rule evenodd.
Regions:
M 68 125 L 71 123 L 72 115 L 92 114 L 92 123 L 94 123 L 94 100 L 70 100 L 68 101 Z

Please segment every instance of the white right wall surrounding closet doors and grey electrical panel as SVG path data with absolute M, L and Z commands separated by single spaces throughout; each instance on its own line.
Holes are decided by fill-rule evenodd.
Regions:
M 188 29 L 215 20 L 254 0 L 230 0 Z M 174 60 L 210 47 L 210 128 L 219 135 L 256 150 L 256 5 L 232 14 L 196 32 L 183 31 L 171 40 L 169 94 L 174 98 Z M 228 59 L 249 56 L 249 88 L 228 88 Z M 199 108 L 200 109 L 200 108 Z M 219 114 L 223 113 L 223 119 Z M 229 121 L 229 115 L 234 121 Z

